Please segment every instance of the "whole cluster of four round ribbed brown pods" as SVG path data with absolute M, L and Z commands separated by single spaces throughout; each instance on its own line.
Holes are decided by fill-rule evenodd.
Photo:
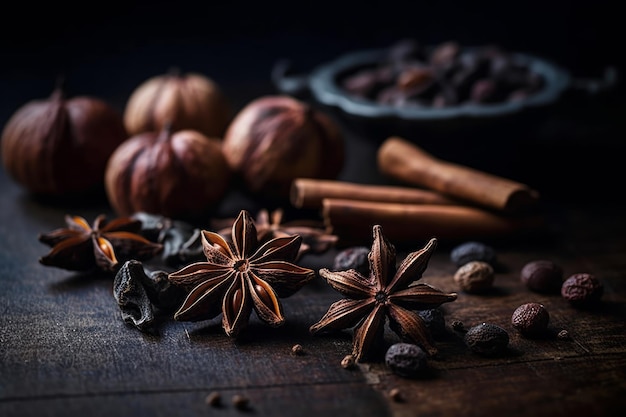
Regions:
M 1 140 L 7 173 L 31 193 L 104 188 L 120 216 L 203 218 L 234 185 L 287 200 L 293 179 L 334 178 L 344 159 L 322 110 L 270 95 L 235 112 L 216 81 L 177 69 L 139 84 L 123 111 L 59 83 L 19 107 Z

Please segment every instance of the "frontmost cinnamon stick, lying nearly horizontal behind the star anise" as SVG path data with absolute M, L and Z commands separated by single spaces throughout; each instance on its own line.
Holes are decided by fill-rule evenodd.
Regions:
M 396 204 L 324 199 L 322 209 L 329 232 L 341 239 L 367 240 L 375 224 L 399 243 L 436 237 L 449 240 L 507 237 L 538 230 L 538 216 L 509 217 L 471 206 Z

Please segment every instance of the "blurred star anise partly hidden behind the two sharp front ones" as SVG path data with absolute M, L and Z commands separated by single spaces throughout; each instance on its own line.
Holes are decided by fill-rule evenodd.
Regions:
M 257 213 L 255 226 L 259 242 L 267 242 L 276 237 L 295 236 L 302 237 L 302 244 L 298 251 L 299 259 L 305 253 L 323 253 L 337 243 L 338 236 L 326 232 L 323 224 L 314 220 L 292 220 L 283 222 L 284 211 L 275 209 L 271 213 L 267 209 L 261 209 Z M 216 221 L 218 233 L 227 240 L 233 220 Z M 222 226 L 226 223 L 226 226 Z

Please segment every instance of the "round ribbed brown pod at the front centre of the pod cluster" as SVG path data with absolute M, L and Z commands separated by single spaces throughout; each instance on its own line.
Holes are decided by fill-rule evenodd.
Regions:
M 194 130 L 132 136 L 111 155 L 105 185 L 111 206 L 172 218 L 206 214 L 225 194 L 231 171 L 219 139 Z

